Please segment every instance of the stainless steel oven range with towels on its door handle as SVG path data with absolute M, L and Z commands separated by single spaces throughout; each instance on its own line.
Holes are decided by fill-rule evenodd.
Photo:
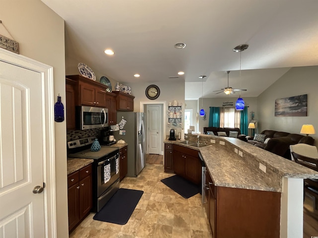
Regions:
M 95 137 L 68 142 L 68 156 L 93 159 L 92 164 L 92 212 L 98 212 L 119 189 L 119 149 L 102 146 L 99 151 L 90 150 Z

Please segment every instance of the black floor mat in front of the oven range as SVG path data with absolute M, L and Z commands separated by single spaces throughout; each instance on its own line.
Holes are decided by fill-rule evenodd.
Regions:
M 119 188 L 103 208 L 95 214 L 94 220 L 125 225 L 133 214 L 144 191 Z

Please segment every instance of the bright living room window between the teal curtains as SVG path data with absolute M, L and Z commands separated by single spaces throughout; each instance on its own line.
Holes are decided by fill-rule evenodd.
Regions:
M 240 111 L 235 108 L 221 108 L 220 127 L 240 127 Z

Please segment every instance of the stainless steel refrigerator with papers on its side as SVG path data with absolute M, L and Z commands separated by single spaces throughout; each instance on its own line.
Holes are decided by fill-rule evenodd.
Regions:
M 126 123 L 121 130 L 114 132 L 114 137 L 128 143 L 127 176 L 137 177 L 146 165 L 146 114 L 135 112 L 117 112 L 117 123 L 122 119 Z M 120 131 L 122 134 L 120 134 Z

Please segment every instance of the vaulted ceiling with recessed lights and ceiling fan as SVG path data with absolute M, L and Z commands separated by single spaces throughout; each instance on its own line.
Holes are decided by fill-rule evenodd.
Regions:
M 185 99 L 202 88 L 224 97 L 213 91 L 227 70 L 230 87 L 256 97 L 290 67 L 318 65 L 317 0 L 42 1 L 65 20 L 67 55 L 121 83 L 185 82 Z M 235 53 L 240 44 L 249 47 Z

